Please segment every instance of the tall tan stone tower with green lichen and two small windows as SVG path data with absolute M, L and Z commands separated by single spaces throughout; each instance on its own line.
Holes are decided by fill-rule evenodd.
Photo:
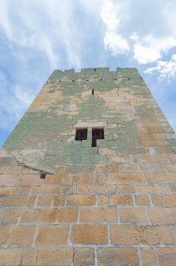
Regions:
M 175 144 L 137 69 L 55 70 L 1 150 L 0 265 L 176 265 Z

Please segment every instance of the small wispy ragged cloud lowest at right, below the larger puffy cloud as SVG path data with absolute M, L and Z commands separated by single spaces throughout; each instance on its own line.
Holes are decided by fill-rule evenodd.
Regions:
M 171 78 L 175 78 L 176 76 L 176 54 L 172 56 L 170 61 L 164 62 L 159 61 L 157 62 L 156 66 L 148 68 L 145 73 L 159 73 L 158 79 L 161 80 L 168 80 L 170 82 Z

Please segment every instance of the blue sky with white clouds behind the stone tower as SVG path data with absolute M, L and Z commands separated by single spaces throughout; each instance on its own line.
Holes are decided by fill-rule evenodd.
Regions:
M 137 67 L 176 130 L 175 0 L 1 0 L 0 146 L 54 69 Z

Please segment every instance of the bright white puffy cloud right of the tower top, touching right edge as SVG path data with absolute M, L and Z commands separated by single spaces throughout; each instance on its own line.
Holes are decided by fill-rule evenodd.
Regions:
M 176 38 L 173 37 L 155 38 L 154 36 L 147 36 L 140 39 L 135 34 L 132 38 L 135 39 L 133 57 L 138 61 L 138 64 L 156 62 L 161 59 L 164 53 L 166 54 L 176 46 Z

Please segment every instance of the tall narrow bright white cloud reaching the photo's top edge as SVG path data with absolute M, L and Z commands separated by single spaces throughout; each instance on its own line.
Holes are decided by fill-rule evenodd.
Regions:
M 122 5 L 119 3 L 112 3 L 112 1 L 105 1 L 103 8 L 101 8 L 101 18 L 106 25 L 105 36 L 103 43 L 105 48 L 112 52 L 112 55 L 123 54 L 129 50 L 129 44 L 126 39 L 119 34 L 120 17 L 122 12 Z

